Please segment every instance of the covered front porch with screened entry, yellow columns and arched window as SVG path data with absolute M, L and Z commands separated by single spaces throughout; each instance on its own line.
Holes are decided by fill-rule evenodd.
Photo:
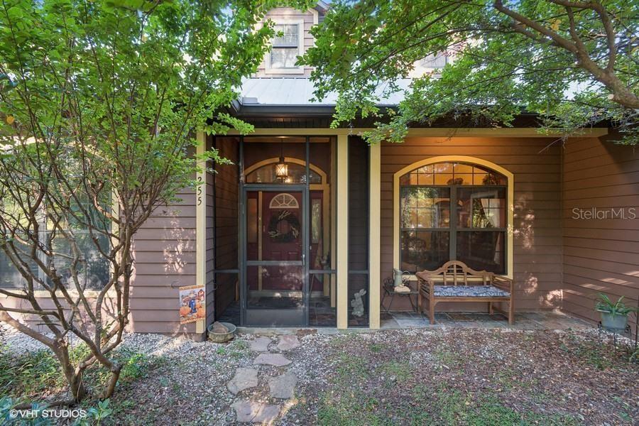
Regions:
M 414 315 L 383 315 L 382 283 L 394 268 L 414 274 L 448 259 L 515 281 L 514 328 L 584 327 L 557 312 L 595 319 L 598 291 L 635 299 L 628 274 L 614 272 L 613 260 L 586 265 L 577 253 L 583 247 L 589 256 L 605 257 L 592 251 L 591 242 L 622 236 L 589 231 L 581 239 L 586 222 L 570 220 L 569 207 L 583 204 L 579 188 L 596 180 L 580 178 L 579 158 L 604 158 L 601 151 L 612 149 L 599 139 L 600 129 L 567 148 L 535 129 L 414 129 L 402 144 L 377 146 L 354 136 L 361 130 L 273 128 L 207 139 L 207 146 L 234 162 L 207 175 L 203 198 L 209 201 L 197 209 L 207 226 L 197 234 L 207 323 L 427 327 Z M 615 147 L 606 164 L 617 161 L 622 149 Z M 619 176 L 625 182 L 626 175 Z M 567 197 L 572 204 L 564 204 Z M 273 220 L 281 212 L 293 212 L 288 217 L 295 220 Z M 623 226 L 617 222 L 606 226 Z M 290 229 L 293 237 L 278 241 Z M 577 272 L 584 266 L 592 267 L 590 278 Z M 608 278 L 618 284 L 611 286 Z M 357 315 L 353 303 L 362 291 Z M 400 298 L 388 308 L 410 305 Z M 438 313 L 436 320 L 439 327 L 506 327 L 481 313 Z

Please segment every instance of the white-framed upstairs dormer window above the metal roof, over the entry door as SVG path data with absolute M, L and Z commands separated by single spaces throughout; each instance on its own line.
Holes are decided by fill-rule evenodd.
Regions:
M 275 37 L 271 40 L 271 54 L 266 57 L 266 72 L 271 74 L 301 74 L 304 67 L 297 67 L 297 56 L 302 55 L 304 21 L 286 21 L 275 24 Z

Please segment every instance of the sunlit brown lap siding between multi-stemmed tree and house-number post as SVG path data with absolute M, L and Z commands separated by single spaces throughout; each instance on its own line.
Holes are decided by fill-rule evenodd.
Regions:
M 160 206 L 135 236 L 135 278 L 131 285 L 131 331 L 194 333 L 180 324 L 178 287 L 195 285 L 195 192 Z

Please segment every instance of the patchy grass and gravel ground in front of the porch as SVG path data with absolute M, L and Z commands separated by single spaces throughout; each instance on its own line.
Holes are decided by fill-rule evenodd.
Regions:
M 231 405 L 278 404 L 282 425 L 636 425 L 639 364 L 596 332 L 413 329 L 300 336 L 291 364 L 253 366 L 253 336 L 226 345 L 131 335 L 126 363 L 101 424 L 229 425 Z M 276 352 L 277 337 L 271 352 Z M 81 348 L 76 349 L 78 356 Z M 256 368 L 258 386 L 233 395 L 236 368 Z M 288 371 L 295 396 L 277 400 L 268 379 Z M 99 368 L 87 383 L 104 380 Z M 44 351 L 0 351 L 0 393 L 43 400 L 63 390 Z

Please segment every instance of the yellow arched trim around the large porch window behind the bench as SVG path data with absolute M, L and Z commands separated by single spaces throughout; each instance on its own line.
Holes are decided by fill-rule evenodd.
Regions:
M 506 185 L 506 273 L 501 276 L 512 279 L 515 176 L 513 173 L 510 173 L 510 171 L 491 161 L 467 155 L 439 155 L 437 157 L 425 158 L 424 160 L 407 165 L 393 174 L 393 268 L 400 268 L 400 178 L 417 168 L 435 163 L 469 163 L 471 165 L 478 165 L 501 173 L 508 180 Z M 416 280 L 417 278 L 415 278 L 415 275 L 412 275 L 411 279 Z

